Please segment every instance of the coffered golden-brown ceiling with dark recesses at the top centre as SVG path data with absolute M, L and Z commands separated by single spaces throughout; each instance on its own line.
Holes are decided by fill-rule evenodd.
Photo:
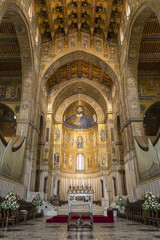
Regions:
M 35 0 L 42 42 L 86 32 L 116 42 L 124 0 Z

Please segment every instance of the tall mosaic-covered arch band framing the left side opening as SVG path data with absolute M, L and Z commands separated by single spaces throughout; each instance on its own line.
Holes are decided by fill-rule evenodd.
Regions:
M 23 1 L 21 1 L 21 3 L 12 0 L 4 2 L 2 6 L 0 6 L 0 23 L 3 16 L 7 15 L 16 29 L 22 64 L 22 93 L 19 118 L 32 119 L 34 116 L 31 111 L 33 105 L 32 96 L 34 95 L 35 85 L 33 74 L 33 46 L 24 6 L 26 6 L 26 3 Z

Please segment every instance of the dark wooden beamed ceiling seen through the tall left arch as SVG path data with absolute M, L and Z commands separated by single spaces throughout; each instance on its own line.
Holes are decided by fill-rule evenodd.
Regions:
M 21 75 L 21 56 L 14 25 L 7 17 L 0 24 L 0 75 Z

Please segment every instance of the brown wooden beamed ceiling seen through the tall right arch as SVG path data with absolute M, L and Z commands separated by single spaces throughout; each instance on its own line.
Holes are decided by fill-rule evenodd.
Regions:
M 160 72 L 160 24 L 155 14 L 148 19 L 143 29 L 138 71 Z

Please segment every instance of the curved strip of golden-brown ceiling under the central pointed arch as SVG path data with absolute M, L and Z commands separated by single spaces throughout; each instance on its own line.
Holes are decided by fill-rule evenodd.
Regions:
M 103 69 L 100 69 L 92 63 L 88 63 L 84 60 L 76 60 L 60 67 L 51 75 L 47 83 L 48 87 L 52 88 L 56 84 L 74 78 L 81 79 L 82 77 L 104 84 L 109 88 L 112 87 L 112 80 Z

